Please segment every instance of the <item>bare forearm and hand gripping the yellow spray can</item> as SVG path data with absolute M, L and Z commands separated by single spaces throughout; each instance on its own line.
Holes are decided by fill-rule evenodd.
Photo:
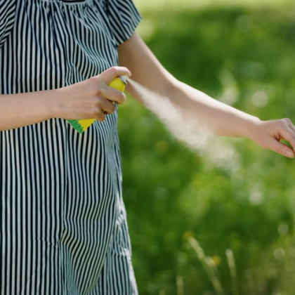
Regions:
M 124 103 L 124 93 L 107 84 L 129 70 L 111 67 L 96 77 L 60 89 L 0 95 L 0 131 L 37 124 L 51 118 L 97 119 L 115 108 L 109 100 Z

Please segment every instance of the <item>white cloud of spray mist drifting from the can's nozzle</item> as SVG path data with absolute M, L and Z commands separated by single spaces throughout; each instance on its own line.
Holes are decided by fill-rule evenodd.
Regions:
M 129 82 L 138 93 L 140 102 L 156 114 L 166 129 L 190 150 L 199 152 L 207 163 L 219 168 L 228 171 L 237 171 L 240 168 L 239 155 L 228 139 L 214 136 L 208 126 L 198 122 L 193 112 L 183 112 L 168 97 L 154 93 L 131 79 Z M 165 152 L 167 148 L 166 143 L 161 140 L 155 146 L 157 152 Z

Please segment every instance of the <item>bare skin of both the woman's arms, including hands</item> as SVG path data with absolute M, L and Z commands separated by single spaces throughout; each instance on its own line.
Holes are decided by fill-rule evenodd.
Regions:
M 49 91 L 0 95 L 0 131 L 37 124 L 51 118 L 97 119 L 103 121 L 114 112 L 114 103 L 122 104 L 124 93 L 107 86 L 114 77 L 126 75 L 146 89 L 169 98 L 180 112 L 195 120 L 216 136 L 250 138 L 263 148 L 293 158 L 295 126 L 288 118 L 261 121 L 258 117 L 214 100 L 205 93 L 178 81 L 159 63 L 135 32 L 118 47 L 120 67 L 112 67 L 96 77 Z M 126 91 L 140 103 L 140 93 L 130 84 Z M 144 103 L 143 103 L 144 104 Z

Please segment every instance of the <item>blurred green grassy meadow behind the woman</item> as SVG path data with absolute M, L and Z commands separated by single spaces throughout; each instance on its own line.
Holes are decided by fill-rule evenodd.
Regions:
M 175 77 L 295 123 L 294 1 L 134 1 Z M 295 294 L 294 159 L 245 138 L 190 150 L 133 98 L 118 127 L 140 294 Z

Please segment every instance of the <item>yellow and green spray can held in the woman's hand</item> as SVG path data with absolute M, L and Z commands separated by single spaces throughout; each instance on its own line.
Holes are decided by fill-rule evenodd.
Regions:
M 127 79 L 127 76 L 118 76 L 110 82 L 109 86 L 124 92 Z M 67 120 L 79 133 L 83 133 L 95 121 L 96 119 Z

